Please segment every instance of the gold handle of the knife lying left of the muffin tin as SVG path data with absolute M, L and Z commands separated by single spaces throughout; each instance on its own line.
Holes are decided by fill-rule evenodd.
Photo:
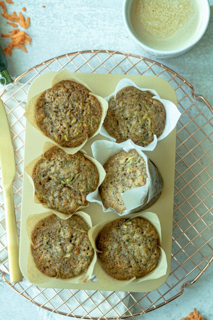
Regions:
M 16 226 L 12 184 L 6 188 L 3 187 L 3 195 L 10 282 L 20 282 L 22 281 L 22 274 L 19 268 L 19 240 Z

